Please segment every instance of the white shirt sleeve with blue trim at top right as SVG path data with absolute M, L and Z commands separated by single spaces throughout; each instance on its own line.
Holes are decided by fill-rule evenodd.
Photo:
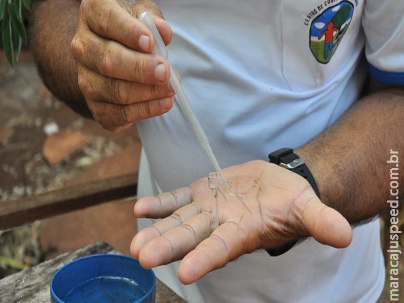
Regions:
M 404 85 L 404 1 L 367 0 L 362 25 L 371 76 L 387 85 Z

